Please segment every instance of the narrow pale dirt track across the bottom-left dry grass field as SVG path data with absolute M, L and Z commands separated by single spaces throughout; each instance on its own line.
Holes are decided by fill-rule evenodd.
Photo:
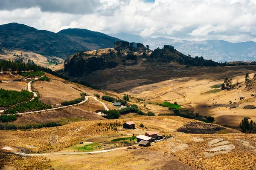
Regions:
M 11 147 L 3 147 L 3 150 L 8 150 L 9 152 L 14 153 L 15 155 L 18 156 L 47 156 L 47 155 L 79 155 L 79 154 L 91 154 L 91 153 L 105 153 L 105 152 L 110 152 L 113 150 L 121 150 L 121 149 L 127 149 L 127 147 L 121 147 L 121 148 L 116 148 L 116 149 L 111 149 L 111 150 L 99 150 L 99 151 L 92 151 L 92 152 L 72 152 L 72 153 L 41 153 L 41 154 L 28 154 L 28 153 L 21 153 L 18 152 Z

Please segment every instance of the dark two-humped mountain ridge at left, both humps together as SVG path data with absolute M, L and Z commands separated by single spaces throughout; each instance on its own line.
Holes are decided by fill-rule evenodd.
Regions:
M 63 59 L 78 51 L 114 47 L 116 41 L 119 39 L 87 29 L 65 29 L 56 34 L 18 23 L 0 25 L 0 46 Z

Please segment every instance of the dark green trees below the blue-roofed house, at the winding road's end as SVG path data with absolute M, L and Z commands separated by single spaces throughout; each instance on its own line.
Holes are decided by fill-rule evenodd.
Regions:
M 144 112 L 142 112 L 137 105 L 131 105 L 131 107 L 126 107 L 121 110 L 102 110 L 102 113 L 107 115 L 106 118 L 108 119 L 117 119 L 120 117 L 120 115 L 125 115 L 127 113 L 137 113 L 139 115 L 145 115 Z M 150 113 L 150 115 L 152 115 Z

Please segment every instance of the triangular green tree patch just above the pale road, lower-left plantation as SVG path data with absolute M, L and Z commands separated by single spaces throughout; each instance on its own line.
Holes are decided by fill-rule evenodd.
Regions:
M 4 111 L 4 113 L 15 114 L 18 112 L 30 112 L 30 111 L 36 111 L 36 110 L 49 109 L 51 107 L 52 107 L 51 105 L 45 104 L 42 101 L 39 101 L 38 98 L 35 98 L 32 101 L 28 101 L 26 103 L 22 103 L 22 104 L 16 105 L 15 107 L 7 109 Z

